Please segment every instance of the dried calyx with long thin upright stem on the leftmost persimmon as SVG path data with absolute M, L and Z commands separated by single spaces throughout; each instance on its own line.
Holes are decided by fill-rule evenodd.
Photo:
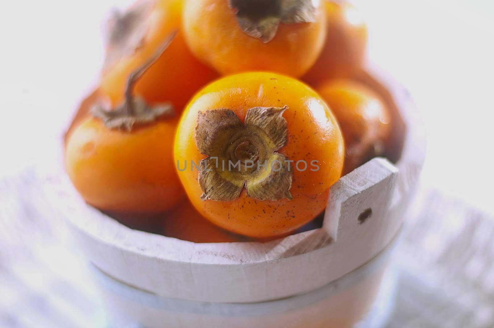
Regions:
M 108 110 L 96 105 L 91 109 L 91 114 L 101 119 L 107 128 L 125 131 L 130 131 L 134 125 L 149 124 L 160 117 L 173 116 L 174 110 L 170 103 L 149 106 L 144 99 L 135 98 L 132 95 L 132 90 L 139 77 L 161 57 L 176 34 L 176 32 L 172 33 L 151 59 L 129 75 L 125 88 L 125 100 L 120 106 Z

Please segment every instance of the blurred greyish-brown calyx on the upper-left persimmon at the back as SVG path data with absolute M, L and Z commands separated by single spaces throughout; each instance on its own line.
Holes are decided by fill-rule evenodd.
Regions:
M 108 21 L 109 36 L 103 71 L 139 49 L 149 30 L 149 16 L 156 0 L 141 0 L 124 13 L 116 10 Z

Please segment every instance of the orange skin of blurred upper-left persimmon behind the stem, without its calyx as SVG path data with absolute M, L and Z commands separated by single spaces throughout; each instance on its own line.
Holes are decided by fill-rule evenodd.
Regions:
M 143 46 L 129 57 L 121 59 L 101 77 L 101 90 L 114 106 L 124 100 L 125 83 L 130 73 L 137 70 L 178 30 L 163 55 L 139 78 L 134 94 L 151 105 L 171 102 L 181 112 L 189 99 L 206 83 L 218 76 L 190 52 L 181 31 L 183 0 L 159 0 L 151 15 L 151 26 Z

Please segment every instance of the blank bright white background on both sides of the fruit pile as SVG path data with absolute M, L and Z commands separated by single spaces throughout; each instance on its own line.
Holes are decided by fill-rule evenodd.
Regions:
M 79 99 L 97 83 L 103 23 L 130 0 L 4 1 L 0 178 L 59 156 Z M 422 183 L 494 213 L 494 1 L 356 0 L 369 55 L 405 84 L 428 132 Z

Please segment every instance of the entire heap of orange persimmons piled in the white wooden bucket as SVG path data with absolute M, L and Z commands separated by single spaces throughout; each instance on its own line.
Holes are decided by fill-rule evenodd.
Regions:
M 397 152 L 389 105 L 353 78 L 367 28 L 345 1 L 141 0 L 110 23 L 66 169 L 130 227 L 280 238 L 325 211 L 342 175 Z

